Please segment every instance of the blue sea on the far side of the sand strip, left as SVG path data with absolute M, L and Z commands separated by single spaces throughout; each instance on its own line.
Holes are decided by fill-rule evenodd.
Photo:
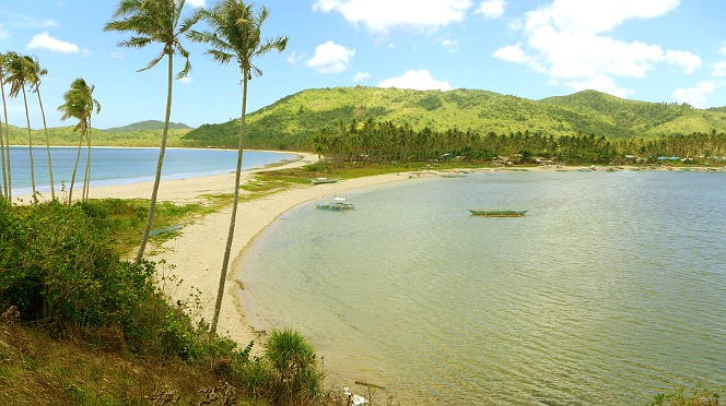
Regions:
M 77 147 L 56 146 L 50 148 L 52 175 L 56 192 L 61 181 L 70 187 Z M 27 146 L 11 146 L 12 189 L 14 195 L 31 194 L 30 154 Z M 245 152 L 243 169 L 261 167 L 284 159 L 293 154 L 268 152 Z M 91 148 L 91 186 L 128 184 L 154 180 L 159 148 Z M 75 184 L 83 183 L 86 150 L 81 152 L 81 162 L 75 175 Z M 48 156 L 45 146 L 33 147 L 35 184 L 43 194 L 50 192 Z M 167 148 L 164 155 L 162 179 L 182 179 L 233 172 L 237 165 L 237 152 L 224 150 Z

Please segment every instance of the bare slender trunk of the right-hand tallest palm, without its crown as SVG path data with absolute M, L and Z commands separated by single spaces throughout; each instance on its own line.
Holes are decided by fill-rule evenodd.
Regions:
M 242 81 L 242 115 L 239 118 L 239 148 L 237 151 L 237 167 L 234 176 L 234 202 L 232 203 L 232 217 L 230 218 L 230 230 L 227 232 L 227 242 L 224 248 L 224 260 L 222 261 L 222 272 L 220 273 L 220 286 L 216 289 L 216 303 L 214 304 L 214 315 L 210 326 L 210 338 L 216 333 L 216 324 L 220 320 L 222 310 L 222 298 L 224 297 L 224 284 L 226 283 L 227 270 L 230 267 L 230 255 L 232 253 L 232 241 L 234 240 L 234 227 L 237 219 L 237 206 L 239 205 L 239 180 L 242 177 L 242 156 L 245 146 L 245 112 L 247 110 L 247 77 L 248 73 L 243 69 L 244 80 Z

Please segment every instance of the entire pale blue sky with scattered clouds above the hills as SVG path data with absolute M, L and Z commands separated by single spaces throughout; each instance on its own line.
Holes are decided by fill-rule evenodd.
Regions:
M 187 0 L 191 13 L 215 0 Z M 487 89 L 529 99 L 594 88 L 646 101 L 726 106 L 724 0 L 267 0 L 264 37 L 288 36 L 257 60 L 248 112 L 307 88 L 395 86 Z M 0 51 L 38 58 L 49 127 L 77 77 L 96 86 L 93 126 L 164 117 L 166 65 L 144 68 L 161 46 L 120 48 L 106 33 L 116 0 L 0 0 Z M 198 28 L 202 28 L 199 26 Z M 239 116 L 239 72 L 186 40 L 192 71 L 174 84 L 172 121 L 192 127 Z M 180 59 L 176 59 L 180 62 Z M 176 64 L 177 70 L 182 67 Z M 8 91 L 8 86 L 5 86 Z M 31 127 L 43 121 L 31 95 Z M 22 98 L 10 123 L 25 127 Z

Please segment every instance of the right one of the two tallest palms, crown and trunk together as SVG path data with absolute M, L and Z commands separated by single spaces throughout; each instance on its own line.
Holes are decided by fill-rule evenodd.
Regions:
M 230 266 L 230 254 L 232 252 L 232 240 L 234 239 L 235 220 L 239 202 L 239 178 L 242 174 L 246 127 L 245 116 L 247 112 L 247 83 L 251 80 L 253 74 L 257 76 L 262 75 L 262 71 L 253 64 L 253 60 L 271 50 L 282 52 L 288 46 L 288 37 L 266 39 L 265 43 L 262 43 L 260 31 L 269 12 L 262 7 L 259 12 L 255 13 L 253 7 L 254 4 L 245 4 L 242 0 L 222 0 L 211 10 L 201 9 L 199 14 L 211 29 L 202 32 L 191 31 L 188 35 L 194 41 L 209 44 L 212 49 L 208 50 L 207 53 L 210 55 L 213 60 L 220 63 L 229 63 L 231 60 L 235 59 L 239 64 L 239 71 L 242 73 L 242 112 L 239 118 L 237 167 L 234 180 L 234 203 L 232 206 L 232 218 L 230 219 L 226 247 L 224 249 L 222 272 L 220 274 L 220 286 L 216 292 L 214 315 L 210 329 L 211 335 L 214 335 L 216 331 L 220 310 L 222 308 L 224 283 Z

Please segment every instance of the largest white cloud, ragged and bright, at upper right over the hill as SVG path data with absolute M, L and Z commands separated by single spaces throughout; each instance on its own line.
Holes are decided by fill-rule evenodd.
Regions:
M 701 65 L 688 51 L 664 51 L 658 45 L 624 41 L 606 34 L 633 19 L 651 19 L 674 10 L 680 0 L 553 0 L 527 12 L 511 25 L 525 41 L 499 48 L 493 57 L 550 76 L 575 89 L 593 88 L 616 96 L 631 91 L 616 85 L 617 77 L 644 77 L 658 63 L 670 63 L 686 73 Z

